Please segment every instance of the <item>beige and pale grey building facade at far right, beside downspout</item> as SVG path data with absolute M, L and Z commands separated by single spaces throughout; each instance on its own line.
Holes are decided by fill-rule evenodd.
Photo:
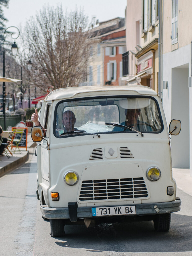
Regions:
M 177 138 L 172 136 L 175 168 L 192 169 L 192 2 L 163 1 L 163 107 L 167 123 L 182 122 Z M 191 170 L 192 176 L 192 170 Z

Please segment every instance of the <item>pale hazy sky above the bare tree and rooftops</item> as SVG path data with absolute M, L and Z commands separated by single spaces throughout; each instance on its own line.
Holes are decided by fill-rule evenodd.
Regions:
M 90 21 L 96 17 L 95 22 L 98 19 L 102 22 L 116 17 L 124 18 L 127 0 L 9 0 L 9 8 L 4 8 L 4 16 L 9 20 L 5 26 L 24 27 L 26 21 L 35 16 L 43 6 L 57 7 L 60 3 L 63 10 L 67 8 L 69 12 L 74 11 L 76 7 L 83 7 Z

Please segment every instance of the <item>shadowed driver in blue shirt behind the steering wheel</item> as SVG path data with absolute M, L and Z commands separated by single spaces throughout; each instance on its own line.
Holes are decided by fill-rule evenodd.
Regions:
M 139 120 L 139 116 L 141 113 L 141 109 L 125 109 L 126 121 L 121 123 L 127 127 L 130 127 L 138 132 L 152 132 L 152 127 Z M 125 127 L 114 127 L 113 132 L 122 132 L 129 131 L 130 129 L 126 129 Z

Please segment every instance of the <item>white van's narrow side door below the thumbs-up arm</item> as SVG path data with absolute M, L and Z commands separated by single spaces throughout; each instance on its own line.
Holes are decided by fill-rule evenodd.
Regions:
M 49 152 L 49 134 L 50 134 L 50 118 L 51 118 L 51 103 L 46 105 L 45 114 L 45 125 L 44 128 L 47 130 L 46 140 L 41 142 L 41 172 L 42 178 L 49 181 L 49 166 L 50 166 L 50 152 Z

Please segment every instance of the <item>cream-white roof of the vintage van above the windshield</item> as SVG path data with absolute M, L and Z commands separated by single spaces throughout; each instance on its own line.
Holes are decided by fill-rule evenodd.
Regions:
M 78 97 L 114 95 L 114 94 L 140 94 L 140 95 L 157 95 L 157 93 L 146 86 L 84 86 L 68 87 L 54 90 L 47 95 L 45 101 L 70 99 Z M 80 95 L 81 94 L 81 95 Z

